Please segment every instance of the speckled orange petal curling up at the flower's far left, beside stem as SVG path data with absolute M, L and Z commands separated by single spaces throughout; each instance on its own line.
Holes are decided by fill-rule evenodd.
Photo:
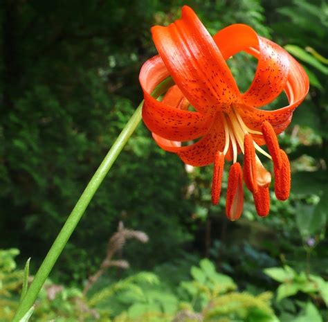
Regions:
M 141 68 L 139 80 L 143 88 L 145 102 L 143 121 L 155 134 L 172 141 L 188 141 L 208 132 L 212 118 L 210 114 L 200 114 L 172 107 L 153 98 L 150 93 L 169 76 L 161 57 L 147 60 Z

